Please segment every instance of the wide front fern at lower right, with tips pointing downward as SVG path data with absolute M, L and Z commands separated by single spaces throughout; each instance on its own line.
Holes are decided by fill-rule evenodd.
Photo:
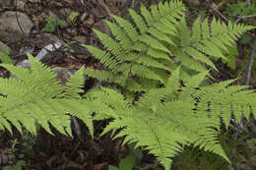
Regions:
M 229 162 L 218 141 L 220 117 L 226 126 L 231 114 L 248 117 L 256 109 L 256 93 L 242 90 L 247 87 L 243 85 L 226 87 L 234 80 L 201 87 L 206 75 L 198 74 L 181 85 L 177 69 L 163 87 L 150 89 L 134 105 L 111 88 L 92 90 L 86 96 L 108 105 L 115 113 L 103 134 L 113 130 L 114 139 L 125 136 L 124 143 L 137 142 L 137 147 L 157 156 L 165 169 L 169 169 L 170 158 L 182 150 L 181 145 L 192 143 Z

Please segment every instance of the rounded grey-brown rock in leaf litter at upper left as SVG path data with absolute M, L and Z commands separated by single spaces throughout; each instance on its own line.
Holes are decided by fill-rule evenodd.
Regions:
M 20 25 L 17 23 L 17 17 Z M 0 39 L 3 41 L 18 41 L 23 36 L 29 35 L 31 28 L 32 22 L 24 13 L 8 11 L 0 16 Z

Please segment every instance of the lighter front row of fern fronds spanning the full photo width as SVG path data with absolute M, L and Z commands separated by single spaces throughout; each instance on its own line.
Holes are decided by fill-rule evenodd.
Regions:
M 72 136 L 70 116 L 82 119 L 93 136 L 92 120 L 114 118 L 104 133 L 121 128 L 115 138 L 149 149 L 168 169 L 171 157 L 184 144 L 195 144 L 205 150 L 228 157 L 218 142 L 220 117 L 226 125 L 230 115 L 255 111 L 253 90 L 247 86 L 228 86 L 232 81 L 201 87 L 207 72 L 180 84 L 179 69 L 160 88 L 148 90 L 137 101 L 125 99 L 117 89 L 102 87 L 81 96 L 84 83 L 80 69 L 64 88 L 56 75 L 29 55 L 32 69 L 1 64 L 16 79 L 0 79 L 0 128 L 12 131 L 10 123 L 22 133 L 22 125 L 36 134 L 35 124 L 51 133 L 49 123 L 62 134 Z M 92 113 L 96 113 L 92 116 Z M 69 114 L 69 115 L 68 115 Z M 209 127 L 215 128 L 213 130 Z

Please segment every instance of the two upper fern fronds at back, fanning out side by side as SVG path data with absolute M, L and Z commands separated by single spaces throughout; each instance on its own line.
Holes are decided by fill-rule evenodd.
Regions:
M 216 19 L 209 26 L 208 19 L 198 18 L 190 29 L 184 12 L 181 1 L 172 0 L 150 10 L 141 6 L 141 15 L 130 9 L 134 24 L 113 16 L 117 24 L 106 21 L 112 37 L 95 29 L 105 49 L 84 45 L 107 70 L 86 69 L 85 73 L 129 91 L 158 87 L 179 62 L 183 78 L 188 78 L 187 70 L 205 72 L 200 63 L 217 70 L 211 58 L 227 60 L 224 53 L 228 46 L 253 28 L 231 23 L 226 26 Z

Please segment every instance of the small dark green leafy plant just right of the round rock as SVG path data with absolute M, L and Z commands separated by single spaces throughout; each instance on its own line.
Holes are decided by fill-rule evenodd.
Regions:
M 57 27 L 66 28 L 67 26 L 68 26 L 68 24 L 64 20 L 61 20 L 61 19 L 58 19 L 58 18 L 48 17 L 47 18 L 47 24 L 41 30 L 42 31 L 53 32 L 53 31 L 55 31 L 55 29 Z

